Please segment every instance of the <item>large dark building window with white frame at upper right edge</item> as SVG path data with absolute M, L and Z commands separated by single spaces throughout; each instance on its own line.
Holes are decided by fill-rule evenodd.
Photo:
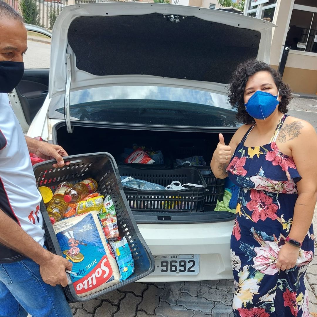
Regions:
M 307 11 L 293 9 L 285 44 L 297 51 L 317 53 L 317 10 L 308 9 L 311 7 Z

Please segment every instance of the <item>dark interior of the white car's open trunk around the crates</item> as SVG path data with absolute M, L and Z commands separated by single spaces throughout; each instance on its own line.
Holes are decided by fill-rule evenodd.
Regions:
M 229 144 L 233 132 L 223 133 L 223 135 L 226 144 Z M 132 210 L 136 221 L 138 223 L 198 223 L 228 221 L 235 217 L 235 214 L 228 211 L 214 211 L 217 199 L 220 201 L 223 199 L 224 191 L 224 180 L 216 179 L 210 170 L 212 153 L 219 142 L 218 133 L 129 130 L 74 125 L 74 132 L 69 134 L 65 123 L 59 123 L 53 127 L 53 142 L 62 146 L 69 155 L 108 152 L 115 158 L 119 172 L 127 166 L 122 164 L 123 159 L 120 154 L 125 148 L 131 149 L 133 144 L 161 150 L 164 155 L 162 166 L 129 164 L 134 168 L 164 169 L 168 173 L 169 169 L 176 168 L 175 159 L 201 155 L 204 157 L 206 166 L 198 167 L 198 169 L 207 183 L 203 211 Z

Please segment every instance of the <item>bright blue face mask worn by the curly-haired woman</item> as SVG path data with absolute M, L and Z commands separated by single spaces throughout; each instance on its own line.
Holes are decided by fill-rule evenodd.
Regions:
M 276 96 L 273 96 L 265 91 L 256 91 L 247 103 L 244 104 L 245 110 L 254 119 L 265 120 L 270 116 L 276 106 L 280 103 L 278 101 L 278 96 L 280 89 Z

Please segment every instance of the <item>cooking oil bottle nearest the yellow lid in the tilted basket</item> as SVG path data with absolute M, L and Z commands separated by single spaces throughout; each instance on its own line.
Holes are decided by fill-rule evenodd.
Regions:
M 68 207 L 71 197 L 64 198 L 65 191 L 71 188 L 73 184 L 63 182 L 59 184 L 54 192 L 52 200 L 47 206 L 47 213 L 52 224 L 61 220 Z

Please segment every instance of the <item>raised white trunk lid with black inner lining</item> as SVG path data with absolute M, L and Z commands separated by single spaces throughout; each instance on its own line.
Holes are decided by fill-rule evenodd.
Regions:
M 131 84 L 225 94 L 238 63 L 252 57 L 269 62 L 273 26 L 221 10 L 161 3 L 67 6 L 52 32 L 49 97 Z

